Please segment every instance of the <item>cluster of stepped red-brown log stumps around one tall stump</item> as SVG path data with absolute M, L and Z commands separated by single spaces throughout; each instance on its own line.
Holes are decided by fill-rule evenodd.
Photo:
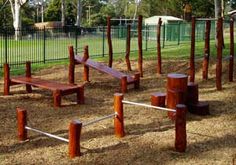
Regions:
M 154 93 L 151 101 L 154 105 L 175 108 L 177 104 L 185 104 L 188 111 L 197 115 L 208 115 L 209 104 L 198 100 L 198 85 L 188 83 L 188 76 L 184 74 L 170 73 L 167 75 L 167 94 Z M 169 111 L 168 117 L 175 120 L 175 113 Z

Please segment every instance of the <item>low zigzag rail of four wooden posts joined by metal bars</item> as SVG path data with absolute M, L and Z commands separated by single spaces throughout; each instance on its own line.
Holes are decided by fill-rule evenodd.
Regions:
M 66 143 L 69 143 L 69 157 L 74 158 L 76 156 L 81 156 L 80 150 L 80 137 L 82 128 L 96 124 L 100 121 L 114 118 L 114 133 L 118 138 L 125 136 L 124 131 L 124 118 L 123 118 L 123 105 L 135 105 L 142 106 L 146 108 L 152 108 L 160 111 L 171 111 L 176 113 L 175 120 L 175 149 L 178 152 L 185 152 L 187 146 L 187 136 L 186 136 L 186 106 L 178 104 L 176 109 L 163 108 L 148 104 L 136 103 L 127 100 L 123 100 L 124 96 L 120 93 L 114 94 L 114 113 L 106 115 L 95 119 L 93 121 L 82 123 L 80 120 L 73 120 L 69 125 L 69 138 L 60 137 L 47 133 L 36 128 L 32 128 L 27 125 L 27 111 L 25 109 L 17 108 L 17 126 L 18 126 L 18 139 L 20 141 L 25 141 L 28 139 L 28 131 L 37 132 L 39 134 L 54 138 Z

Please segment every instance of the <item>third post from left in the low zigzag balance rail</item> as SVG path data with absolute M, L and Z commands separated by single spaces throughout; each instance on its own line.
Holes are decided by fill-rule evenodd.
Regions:
M 114 120 L 115 126 L 115 135 L 117 137 L 125 136 L 124 131 L 124 117 L 123 117 L 123 100 L 124 96 L 121 93 L 114 94 L 114 111 L 117 113 L 117 116 Z

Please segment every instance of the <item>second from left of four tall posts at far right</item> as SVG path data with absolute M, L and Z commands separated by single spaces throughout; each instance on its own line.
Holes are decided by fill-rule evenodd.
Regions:
M 208 79 L 208 66 L 209 66 L 209 57 L 210 57 L 210 32 L 211 32 L 211 21 L 206 21 L 205 28 L 205 48 L 204 48 L 204 59 L 202 64 L 202 78 Z

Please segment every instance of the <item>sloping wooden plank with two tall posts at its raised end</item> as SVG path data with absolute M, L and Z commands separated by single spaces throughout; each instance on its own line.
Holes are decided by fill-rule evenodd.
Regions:
M 95 62 L 89 59 L 88 46 L 84 48 L 84 56 L 74 55 L 73 46 L 69 46 L 70 55 L 70 65 L 69 65 L 69 82 L 74 83 L 74 72 L 76 64 L 84 65 L 84 80 L 89 81 L 89 67 L 98 70 L 100 72 L 106 73 L 120 80 L 121 92 L 127 92 L 127 86 L 134 84 L 134 88 L 139 88 L 140 73 L 136 73 L 134 76 L 127 75 L 125 73 L 119 72 L 112 69 L 102 63 Z

